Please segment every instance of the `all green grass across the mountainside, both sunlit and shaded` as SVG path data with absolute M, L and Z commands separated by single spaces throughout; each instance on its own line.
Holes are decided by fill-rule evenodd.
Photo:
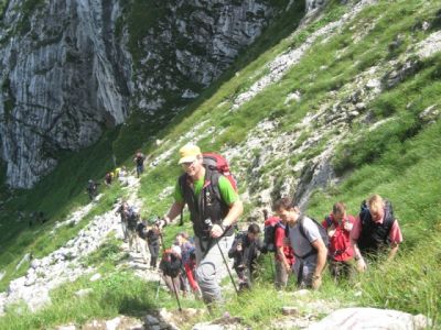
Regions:
M 139 1 L 135 3 L 142 6 Z M 280 6 L 283 3 L 280 2 Z M 289 15 L 283 15 L 275 25 L 269 26 L 261 38 L 232 66 L 232 69 L 206 89 L 195 102 L 174 119 L 172 114 L 166 114 L 169 124 L 165 128 L 161 127 L 161 122 L 135 111 L 128 124 L 119 132 L 114 132 L 114 135 L 110 134 L 96 146 L 77 155 L 67 155 L 57 172 L 43 180 L 34 190 L 19 191 L 7 206 L 9 213 L 0 216 L 6 223 L 2 229 L 6 228 L 7 232 L 10 229 L 12 232 L 2 234 L 6 240 L 2 240 L 1 244 L 6 250 L 2 250 L 0 255 L 0 265 L 6 267 L 7 276 L 0 283 L 1 287 L 4 288 L 11 278 L 24 274 L 28 265 L 23 265 L 17 272 L 14 267 L 25 252 L 33 251 L 36 255 L 49 253 L 75 235 L 94 215 L 103 213 L 110 208 L 121 194 L 118 186 L 107 189 L 104 199 L 78 228 L 65 228 L 56 238 L 47 235 L 55 220 L 63 219 L 74 207 L 87 201 L 83 194 L 84 187 L 78 183 L 85 183 L 89 176 L 103 177 L 110 164 L 111 154 L 117 156 L 119 164 L 131 164 L 132 151 L 142 147 L 150 155 L 150 161 L 153 161 L 170 147 L 176 146 L 178 139 L 203 121 L 206 121 L 206 125 L 202 132 L 211 125 L 215 125 L 217 130 L 216 133 L 198 141 L 203 150 L 219 151 L 223 147 L 241 145 L 248 132 L 265 118 L 277 118 L 281 122 L 280 133 L 292 133 L 297 129 L 295 123 L 299 123 L 306 112 L 313 112 L 323 105 L 332 107 L 336 100 L 347 99 L 353 92 L 347 86 L 357 75 L 372 66 L 387 67 L 391 59 L 401 62 L 407 56 L 410 45 L 433 32 L 433 30 L 422 31 L 416 26 L 420 26 L 424 21 L 433 22 L 433 26 L 437 26 L 438 10 L 435 1 L 378 1 L 375 6 L 366 8 L 335 35 L 312 45 L 300 63 L 279 82 L 266 88 L 237 111 L 229 112 L 235 97 L 268 72 L 265 65 L 269 61 L 289 47 L 300 45 L 311 33 L 327 22 L 338 19 L 346 11 L 346 7 L 340 1 L 330 1 L 325 12 L 316 22 L 292 34 L 299 16 L 289 21 Z M 400 20 L 396 20 L 397 16 Z M 150 22 L 153 23 L 154 20 L 155 18 L 151 18 Z M 144 33 L 142 29 L 150 24 L 141 26 L 141 22 L 138 18 L 131 26 L 139 29 L 140 34 Z M 375 23 L 373 29 L 367 30 L 366 25 L 372 23 Z M 361 31 L 366 32 L 361 41 L 352 42 Z M 400 42 L 395 46 L 397 40 Z M 368 273 L 357 277 L 356 280 L 361 283 L 359 288 L 351 283 L 336 286 L 326 275 L 322 289 L 313 293 L 309 298 L 310 301 L 325 299 L 343 306 L 395 308 L 411 314 L 423 314 L 431 317 L 434 322 L 439 322 L 441 227 L 438 213 L 441 207 L 439 198 L 441 124 L 439 121 L 427 124 L 419 114 L 429 106 L 440 107 L 438 100 L 441 92 L 440 63 L 440 55 L 418 63 L 412 75 L 394 88 L 381 92 L 367 105 L 370 123 L 378 121 L 384 123 L 375 130 L 369 130 L 369 125 L 364 121 L 351 123 L 351 133 L 336 147 L 333 157 L 333 165 L 341 182 L 316 190 L 309 202 L 308 213 L 321 219 L 337 200 L 345 201 L 349 212 L 356 213 L 361 201 L 370 194 L 377 193 L 387 197 L 394 205 L 405 235 L 399 255 L 394 263 L 373 265 Z M 235 73 L 238 75 L 235 76 Z M 384 72 L 381 76 L 387 74 Z M 287 96 L 294 90 L 301 92 L 301 100 L 286 105 Z M 314 130 L 320 130 L 321 124 L 323 123 L 316 122 L 308 131 L 302 131 L 295 144 L 293 142 L 293 146 L 300 146 Z M 157 146 L 153 143 L 154 139 L 161 139 L 164 143 Z M 182 144 L 185 142 L 187 141 L 183 141 Z M 276 158 L 261 169 L 260 175 L 278 177 L 275 183 L 277 193 L 284 176 L 293 176 L 291 165 L 314 157 L 324 147 L 325 139 L 300 155 L 288 154 L 286 157 Z M 256 150 L 254 155 L 257 156 L 259 150 Z M 93 158 L 90 162 L 84 162 L 89 157 Z M 103 162 L 97 162 L 96 158 Z M 176 160 L 178 155 L 174 152 L 169 160 L 170 163 L 163 162 L 157 167 L 147 166 L 139 191 L 139 197 L 144 202 L 144 216 L 161 216 L 172 204 L 171 196 L 163 199 L 159 196 L 166 187 L 175 185 L 180 173 Z M 252 160 L 238 158 L 232 162 L 233 168 L 236 167 L 240 173 L 250 172 L 251 164 Z M 75 172 L 69 173 L 68 168 L 75 168 Z M 74 175 L 75 177 L 72 177 Z M 258 185 L 251 177 L 246 176 L 241 180 L 240 191 L 245 191 L 246 187 L 251 190 L 250 183 L 254 184 L 252 191 L 269 187 L 268 183 Z M 33 196 L 39 198 L 32 199 Z M 251 199 L 245 206 L 246 212 L 243 218 L 251 212 L 256 204 L 256 200 Z M 23 223 L 13 221 L 13 212 L 17 210 L 31 211 L 40 208 L 49 215 L 50 223 L 39 229 L 25 229 Z M 192 232 L 187 213 L 183 228 L 178 226 L 166 228 L 165 245 L 169 246 L 175 233 L 182 230 Z M 47 241 L 51 243 L 46 246 Z M 154 285 L 141 283 L 128 271 L 114 272 L 115 265 L 125 257 L 118 242 L 115 238 L 110 238 L 100 250 L 84 260 L 86 265 L 97 265 L 106 273 L 105 279 L 90 284 L 85 277 L 63 286 L 53 293 L 53 300 L 56 304 L 37 314 L 23 317 L 19 312 L 20 308 L 10 310 L 7 317 L 0 319 L 0 328 L 6 327 L 4 324 L 12 324 L 11 329 L 28 329 L 71 321 L 84 323 L 92 318 L 111 318 L 118 314 L 138 316 L 155 307 L 175 310 L 173 299 L 163 293 L 161 299 L 152 302 Z M 256 288 L 250 295 L 235 297 L 233 293 L 227 292 L 227 309 L 230 314 L 241 316 L 245 324 L 249 327 L 265 328 L 272 319 L 280 316 L 283 305 L 300 304 L 290 300 L 287 294 L 278 295 L 269 284 L 271 278 L 270 264 L 266 257 L 261 264 Z M 129 282 L 133 283 L 133 287 L 129 286 Z M 67 298 L 73 296 L 73 292 L 89 286 L 94 288 L 94 294 L 89 297 L 79 300 Z M 292 289 L 291 283 L 289 290 Z M 361 297 L 356 294 L 358 290 L 362 292 Z M 190 306 L 201 307 L 191 300 L 184 301 L 184 307 Z M 190 328 L 191 322 L 194 320 L 184 327 Z

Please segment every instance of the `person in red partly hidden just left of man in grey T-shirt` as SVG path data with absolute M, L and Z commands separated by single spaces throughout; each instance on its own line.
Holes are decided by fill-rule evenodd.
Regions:
M 270 217 L 266 220 L 266 226 L 275 226 L 273 245 L 275 245 L 275 285 L 276 289 L 282 290 L 288 285 L 289 274 L 295 257 L 292 251 L 289 238 L 287 235 L 287 220 L 278 217 Z

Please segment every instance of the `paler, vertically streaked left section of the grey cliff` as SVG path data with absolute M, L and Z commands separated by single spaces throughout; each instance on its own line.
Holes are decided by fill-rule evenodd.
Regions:
M 54 168 L 56 151 L 87 146 L 125 120 L 131 70 L 112 34 L 118 14 L 116 0 L 9 2 L 0 153 L 11 186 L 32 186 Z

